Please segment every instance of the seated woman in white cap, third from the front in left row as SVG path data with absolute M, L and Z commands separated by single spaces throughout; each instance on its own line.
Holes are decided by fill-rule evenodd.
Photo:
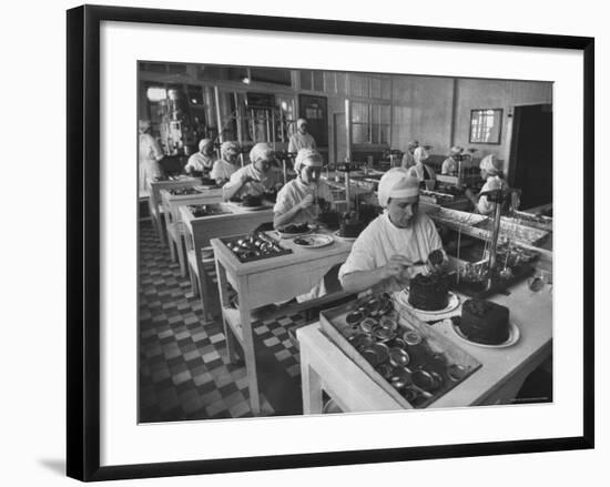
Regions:
M 273 150 L 268 144 L 255 144 L 250 151 L 250 164 L 235 171 L 223 186 L 224 201 L 245 194 L 264 195 L 282 184 L 279 171 L 273 168 Z

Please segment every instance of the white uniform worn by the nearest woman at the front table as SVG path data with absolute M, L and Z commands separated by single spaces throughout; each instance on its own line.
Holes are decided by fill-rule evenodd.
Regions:
M 409 227 L 399 229 L 390 222 L 386 211 L 370 222 L 354 242 L 347 261 L 339 268 L 339 280 L 353 272 L 382 267 L 393 255 L 405 256 L 410 262 L 426 262 L 430 252 L 436 250 L 443 251 L 443 242 L 428 215 L 418 212 Z M 426 272 L 426 266 L 407 267 L 405 277 L 410 280 Z M 400 291 L 405 284 L 389 277 L 374 286 L 373 292 L 392 293 Z

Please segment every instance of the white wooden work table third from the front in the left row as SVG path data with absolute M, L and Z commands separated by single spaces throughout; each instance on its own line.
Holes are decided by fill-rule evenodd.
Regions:
M 206 315 L 212 306 L 205 280 L 205 268 L 214 266 L 214 258 L 203 258 L 202 250 L 210 246 L 211 240 L 222 236 L 253 232 L 263 223 L 273 222 L 273 204 L 248 211 L 234 203 L 218 203 L 223 214 L 195 217 L 187 206 L 180 206 L 180 219 L 184 227 L 186 256 L 192 268 L 196 270 L 200 295 Z

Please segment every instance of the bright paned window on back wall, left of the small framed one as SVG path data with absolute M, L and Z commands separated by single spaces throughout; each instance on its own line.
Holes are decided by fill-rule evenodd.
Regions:
M 352 142 L 388 144 L 390 106 L 376 103 L 352 103 Z

